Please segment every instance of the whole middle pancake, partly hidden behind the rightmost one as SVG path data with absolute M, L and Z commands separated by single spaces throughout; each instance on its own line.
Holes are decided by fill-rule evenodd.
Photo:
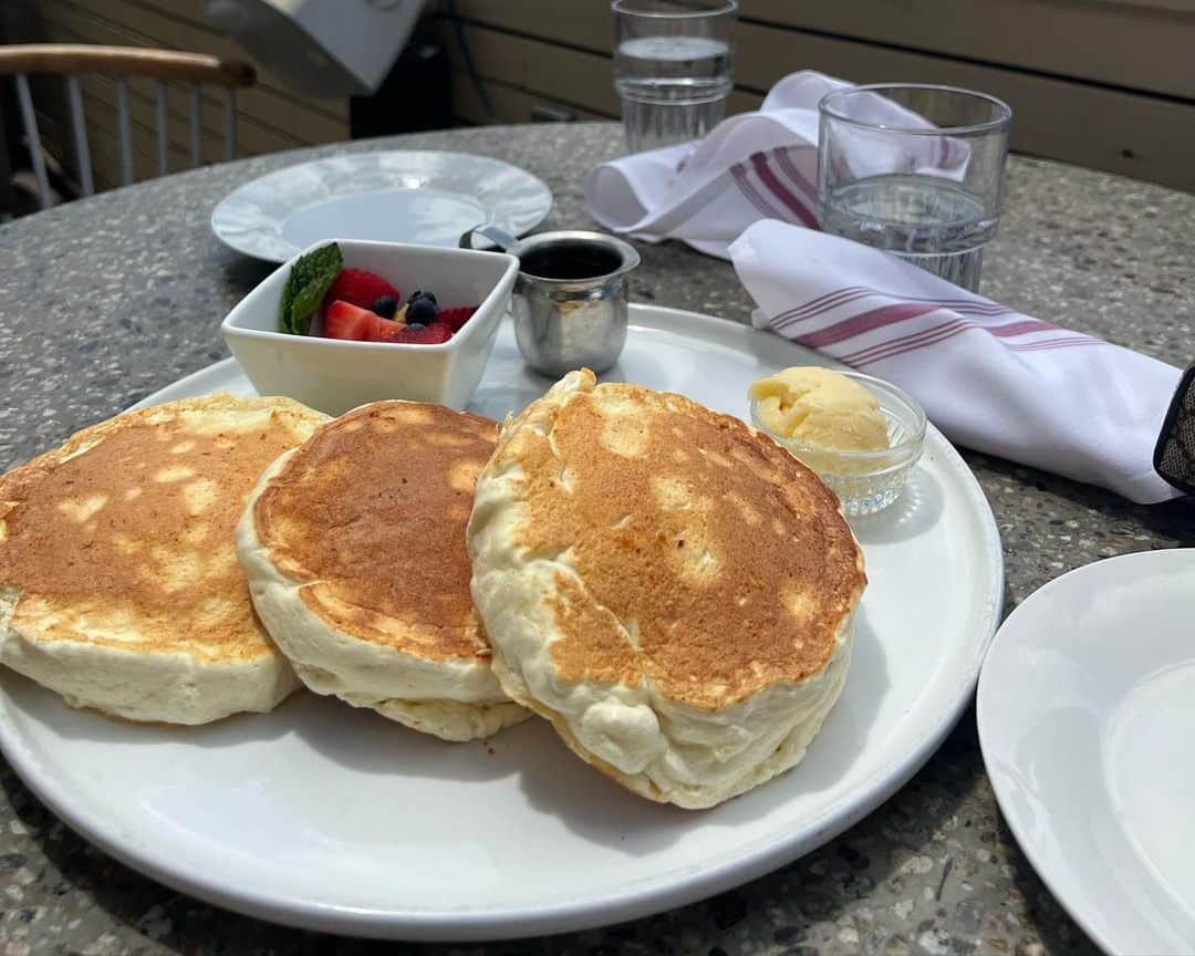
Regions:
M 441 405 L 378 402 L 262 476 L 238 554 L 311 690 L 453 741 L 529 716 L 494 678 L 468 589 L 465 525 L 497 431 Z

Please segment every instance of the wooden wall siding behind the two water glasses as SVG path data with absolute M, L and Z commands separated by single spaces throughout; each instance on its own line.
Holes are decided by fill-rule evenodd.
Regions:
M 603 0 L 456 0 L 500 118 L 559 104 L 617 116 Z M 568 11 L 566 13 L 564 11 Z M 741 0 L 730 111 L 811 68 L 858 82 L 946 82 L 1013 109 L 1021 152 L 1195 190 L 1195 5 L 1173 0 Z M 471 86 L 452 31 L 455 88 Z M 508 105 L 503 109 L 500 100 Z M 488 122 L 476 91 L 462 122 Z

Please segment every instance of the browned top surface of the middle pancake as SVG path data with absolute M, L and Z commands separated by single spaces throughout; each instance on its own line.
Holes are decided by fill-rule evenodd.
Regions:
M 431 660 L 488 656 L 465 526 L 497 422 L 379 402 L 321 428 L 253 507 L 258 540 L 313 613 Z

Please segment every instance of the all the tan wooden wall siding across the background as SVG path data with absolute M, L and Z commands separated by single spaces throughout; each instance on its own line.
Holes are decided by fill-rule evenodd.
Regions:
M 442 0 L 440 0 L 442 4 Z M 0 38 L 165 47 L 244 57 L 203 16 L 204 0 L 0 0 Z M 456 0 L 498 118 L 614 118 L 606 0 Z M 1195 190 L 1195 4 L 1191 0 L 741 0 L 730 111 L 755 109 L 784 74 L 810 67 L 858 81 L 951 82 L 986 90 L 1016 112 L 1013 147 Z M 489 115 L 445 20 L 459 122 Z M 41 84 L 44 88 L 44 84 Z M 115 93 L 87 78 L 97 185 L 118 179 Z M 35 97 L 36 98 L 36 97 Z M 53 88 L 39 99 L 61 103 Z M 157 173 L 151 84 L 133 85 L 135 164 Z M 259 67 L 238 97 L 243 154 L 347 139 L 348 100 L 289 92 Z M 47 139 L 73 148 L 47 108 Z M 222 153 L 221 105 L 204 108 L 204 154 Z M 56 122 L 56 118 L 59 122 Z M 171 97 L 171 164 L 190 164 L 188 103 Z

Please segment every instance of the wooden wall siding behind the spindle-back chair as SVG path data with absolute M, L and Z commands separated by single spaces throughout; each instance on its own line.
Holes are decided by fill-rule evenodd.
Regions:
M 0 38 L 10 43 L 110 43 L 161 47 L 247 59 L 227 36 L 212 29 L 203 14 L 204 0 L 0 0 Z M 240 155 L 274 153 L 349 137 L 347 99 L 320 99 L 292 93 L 269 71 L 256 65 L 258 82 L 238 92 L 237 137 Z M 120 146 L 116 135 L 116 87 L 109 76 L 81 76 L 87 137 L 96 188 L 120 183 Z M 130 82 L 134 170 L 137 178 L 158 174 L 157 99 L 151 80 Z M 67 168 L 74 167 L 61 85 L 35 81 L 33 102 L 43 139 Z M 170 164 L 172 171 L 190 168 L 190 105 L 188 91 L 170 87 Z M 215 88 L 203 96 L 203 154 L 219 161 L 223 151 L 223 97 Z

